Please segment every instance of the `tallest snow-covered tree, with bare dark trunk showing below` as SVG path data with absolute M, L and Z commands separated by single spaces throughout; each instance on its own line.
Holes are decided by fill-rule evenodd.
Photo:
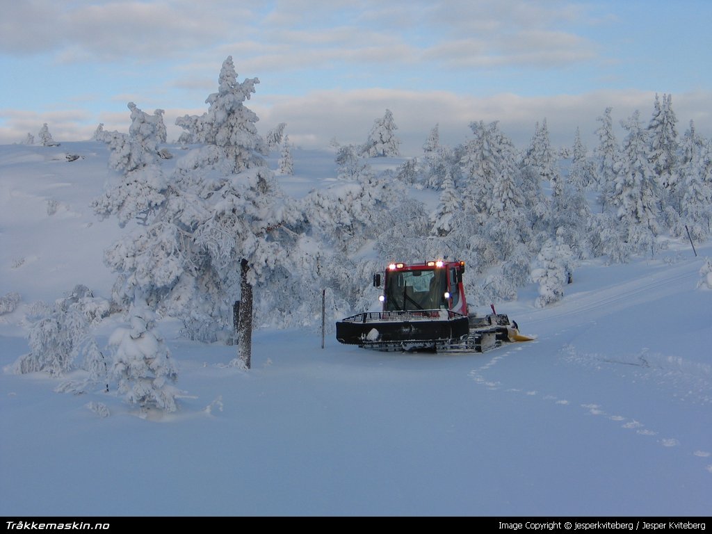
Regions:
M 278 188 L 264 156 L 268 144 L 258 135 L 254 112 L 244 101 L 254 93 L 257 78 L 240 83 L 231 56 L 223 62 L 218 92 L 209 95 L 209 109 L 201 117 L 179 119 L 192 137 L 206 145 L 200 149 L 217 155 L 214 172 L 206 174 L 201 197 L 209 216 L 192 236 L 197 251 L 209 264 L 217 285 L 226 289 L 225 301 L 236 295 L 234 276 L 239 273 L 239 365 L 251 367 L 253 288 L 268 285 L 278 271 L 278 261 L 289 256 L 298 212 Z M 288 272 L 288 269 L 286 270 Z M 284 274 L 282 272 L 281 274 Z

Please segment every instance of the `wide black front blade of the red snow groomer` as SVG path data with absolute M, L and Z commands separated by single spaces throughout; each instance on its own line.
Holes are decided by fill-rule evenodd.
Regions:
M 468 318 L 450 310 L 365 312 L 336 323 L 336 339 L 346 345 L 379 350 L 426 350 L 458 340 L 469 331 Z

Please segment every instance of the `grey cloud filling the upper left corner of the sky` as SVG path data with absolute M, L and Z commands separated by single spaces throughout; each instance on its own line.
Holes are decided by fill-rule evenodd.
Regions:
M 251 33 L 252 14 L 231 2 L 184 0 L 7 2 L 0 51 L 60 61 L 158 61 Z

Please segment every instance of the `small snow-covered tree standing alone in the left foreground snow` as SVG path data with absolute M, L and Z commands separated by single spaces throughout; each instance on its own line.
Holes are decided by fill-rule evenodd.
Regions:
M 142 411 L 175 412 L 177 367 L 156 328 L 155 313 L 140 296 L 132 304 L 129 327 L 117 328 L 109 337 L 109 347 L 113 352 L 111 376 L 129 404 Z

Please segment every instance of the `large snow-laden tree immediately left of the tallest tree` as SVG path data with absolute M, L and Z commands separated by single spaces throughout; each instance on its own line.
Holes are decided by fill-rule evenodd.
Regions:
M 164 313 L 176 298 L 177 287 L 191 286 L 199 262 L 192 261 L 189 240 L 197 219 L 206 216 L 201 202 L 192 191 L 182 190 L 179 180 L 167 179 L 157 155 L 162 137 L 160 114 L 148 115 L 134 103 L 128 135 L 105 132 L 109 166 L 117 171 L 112 185 L 93 201 L 100 218 L 117 216 L 123 228 L 131 221 L 138 224 L 105 251 L 105 263 L 117 273 L 114 298 L 127 310 L 137 290 L 146 295 L 155 308 Z M 180 286 L 183 282 L 184 286 Z M 168 304 L 167 304 L 168 303 Z M 199 299 L 193 304 L 199 308 Z

